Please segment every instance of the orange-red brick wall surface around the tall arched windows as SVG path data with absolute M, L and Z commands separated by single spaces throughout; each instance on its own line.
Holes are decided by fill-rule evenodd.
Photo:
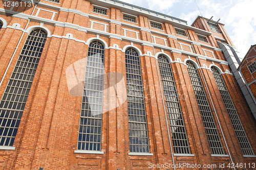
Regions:
M 196 31 L 192 29 L 187 29 L 187 37 L 176 35 L 174 26 L 168 22 L 162 23 L 163 31 L 152 29 L 148 25 L 148 17 L 144 15 L 137 15 L 136 23 L 123 21 L 122 11 L 115 7 L 108 7 L 107 16 L 104 16 L 92 13 L 93 3 L 89 1 L 60 1 L 60 4 L 44 1 L 42 3 L 57 7 L 61 6 L 66 9 L 76 9 L 76 11 L 67 12 L 67 10 L 63 9 L 58 11 L 45 5 L 45 7 L 40 8 L 53 12 L 57 11 L 52 20 L 50 18 L 53 13 L 44 14 L 39 12 L 37 18 L 49 19 L 45 20 L 45 23 L 40 23 L 39 20 L 35 19 L 31 19 L 28 23 L 26 19 L 0 14 L 7 21 L 8 26 L 12 26 L 13 23 L 19 23 L 20 28 L 25 29 L 28 23 L 27 28 L 32 26 L 40 28 L 41 26 L 41 28 L 48 29 L 51 33 L 42 52 L 19 125 L 13 145 L 15 150 L 0 150 L 0 159 L 2 160 L 0 167 L 3 169 L 39 169 L 39 167 L 44 167 L 44 169 L 146 169 L 148 168 L 148 163 L 164 164 L 167 162 L 172 164 L 173 159 L 175 164 L 219 165 L 219 163 L 230 163 L 229 157 L 212 157 L 210 153 L 196 96 L 186 65 L 184 65 L 186 59 L 197 63 L 195 58 L 197 55 L 201 56 L 198 58 L 198 64 L 201 67 L 206 65 L 206 67 L 202 68 L 202 72 L 198 71 L 221 136 L 225 154 L 228 155 L 229 149 L 233 162 L 255 162 L 255 158 L 243 157 L 221 94 L 209 70 L 209 66 L 214 64 L 225 73 L 222 77 L 255 153 L 256 146 L 254 143 L 256 143 L 256 139 L 254 136 L 256 134 L 251 131 L 255 129 L 255 121 L 252 115 L 246 113 L 249 112 L 249 108 L 242 97 L 236 80 L 232 75 L 226 73 L 226 70 L 230 70 L 228 65 L 225 62 L 220 64 L 220 61 L 224 60 L 224 56 L 216 48 L 215 35 L 207 36 L 209 43 L 205 44 L 199 42 L 196 37 Z M 30 15 L 32 10 L 25 11 L 25 13 Z M 89 14 L 90 17 L 85 13 Z M 36 10 L 33 13 L 33 16 L 35 15 Z M 154 20 L 154 18 L 151 20 Z M 58 24 L 65 22 L 67 27 L 60 27 L 58 24 L 54 26 L 52 22 L 55 21 Z M 92 21 L 95 21 L 93 26 Z M 68 27 L 69 24 L 71 25 L 70 27 Z M 209 29 L 202 28 L 202 26 L 205 26 L 205 22 L 202 19 L 198 19 L 196 27 L 209 31 Z M 81 31 L 82 28 L 88 28 L 88 31 Z M 0 44 L 2 46 L 0 48 L 1 78 L 3 78 L 15 47 L 20 40 L 17 51 L 3 79 L 3 84 L 0 87 L 1 97 L 28 36 L 27 32 L 22 36 L 22 29 L 8 27 L 2 28 L 0 31 Z M 127 31 L 125 36 L 124 29 L 134 32 Z M 138 36 L 136 36 L 135 32 L 138 32 Z M 68 37 L 67 34 L 72 34 L 73 37 Z M 156 40 L 156 43 L 153 44 L 152 42 L 155 41 L 152 35 L 159 37 L 159 41 Z M 102 115 L 101 151 L 104 154 L 74 153 L 77 148 L 82 97 L 70 95 L 66 80 L 66 69 L 74 62 L 87 57 L 88 43 L 86 42 L 90 38 L 99 39 L 107 45 L 105 46 L 105 72 L 119 72 L 124 79 L 126 77 L 126 69 L 123 48 L 128 45 L 141 52 L 140 60 L 148 137 L 150 153 L 153 153 L 153 156 L 128 155 L 130 147 L 127 102 Z M 222 35 L 222 38 L 227 38 L 227 36 Z M 186 45 L 186 48 L 183 48 L 184 51 L 181 51 L 181 43 L 190 45 L 190 47 Z M 115 47 L 115 44 L 118 47 Z M 178 51 L 173 52 L 172 49 L 178 49 Z M 207 60 L 203 59 L 205 55 L 202 49 L 212 51 L 215 58 L 207 55 L 208 58 L 205 57 Z M 194 156 L 174 156 L 172 158 L 167 132 L 168 125 L 166 124 L 161 85 L 158 77 L 158 61 L 154 57 L 157 53 L 165 54 L 172 60 L 170 65 L 176 81 L 189 147 L 191 154 L 194 154 Z M 205 78 L 206 84 L 203 78 Z M 104 86 L 108 88 L 107 81 L 104 82 Z M 207 88 L 210 95 L 207 92 Z M 210 98 L 214 106 L 212 106 Z M 110 107 L 113 103 L 115 104 L 115 101 L 109 100 L 107 94 L 104 94 L 103 101 L 104 107 Z M 216 114 L 214 109 L 216 109 Z M 219 119 L 220 124 L 218 124 L 217 119 Z M 222 135 L 222 132 L 224 135 Z M 227 144 L 225 144 L 225 141 Z

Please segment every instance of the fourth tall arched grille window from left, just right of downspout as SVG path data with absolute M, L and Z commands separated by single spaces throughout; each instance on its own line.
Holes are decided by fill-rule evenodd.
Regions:
M 170 132 L 172 133 L 174 153 L 190 154 L 186 128 L 172 68 L 170 67 L 168 60 L 162 55 L 158 57 L 158 63 L 163 84 L 165 104 L 169 117 Z

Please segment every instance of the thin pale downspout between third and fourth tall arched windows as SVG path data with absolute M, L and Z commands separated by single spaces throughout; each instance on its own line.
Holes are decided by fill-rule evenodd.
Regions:
M 147 18 L 147 22 L 148 22 L 148 27 L 150 27 L 150 21 Z M 153 43 L 153 38 L 152 38 L 152 33 L 150 32 L 151 35 L 151 40 Z M 161 86 L 161 80 L 160 80 L 160 74 L 159 74 L 159 68 L 158 68 L 158 64 L 157 64 L 157 58 L 156 58 L 156 52 L 155 52 L 155 47 L 153 45 L 153 50 L 154 50 L 154 56 L 155 56 L 155 60 L 156 60 L 156 66 L 157 66 L 157 75 L 158 75 L 158 80 L 159 80 L 159 84 L 160 84 L 160 89 L 161 89 L 161 95 L 162 95 L 162 102 L 163 102 L 163 109 L 164 109 L 164 115 L 165 115 L 165 121 L 166 121 L 166 125 L 167 125 L 167 132 L 168 132 L 168 138 L 169 138 L 169 144 L 170 144 L 170 152 L 172 153 L 172 160 L 173 160 L 173 164 L 174 163 L 174 153 L 173 153 L 173 148 L 172 148 L 172 142 L 170 141 L 170 133 L 169 133 L 169 125 L 168 125 L 168 120 L 167 120 L 167 115 L 166 115 L 166 109 L 165 109 L 165 105 L 164 105 L 164 99 L 163 99 L 163 91 L 162 91 L 162 86 Z M 174 170 L 176 170 L 175 166 L 174 166 Z

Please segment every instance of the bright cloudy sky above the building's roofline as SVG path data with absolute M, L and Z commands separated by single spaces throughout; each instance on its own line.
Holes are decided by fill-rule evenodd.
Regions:
M 230 39 L 243 58 L 256 44 L 256 0 L 121 0 L 187 21 L 198 15 L 224 23 Z M 201 11 L 199 11 L 198 7 Z

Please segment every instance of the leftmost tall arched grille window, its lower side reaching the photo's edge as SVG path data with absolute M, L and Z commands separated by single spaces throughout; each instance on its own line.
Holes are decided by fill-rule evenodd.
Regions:
M 0 103 L 0 145 L 12 147 L 47 34 L 32 31 L 19 55 Z

